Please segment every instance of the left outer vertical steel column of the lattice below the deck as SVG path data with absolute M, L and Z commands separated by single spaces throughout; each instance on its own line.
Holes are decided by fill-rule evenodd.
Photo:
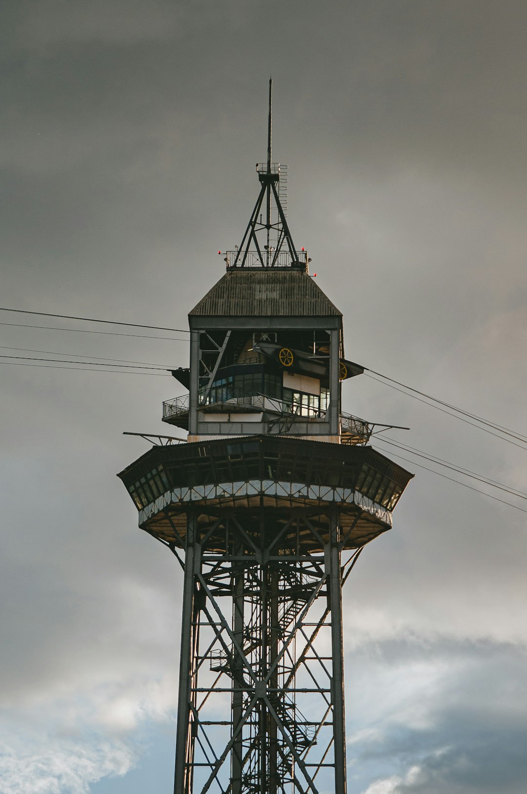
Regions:
M 188 515 L 185 551 L 185 576 L 183 580 L 183 615 L 181 619 L 181 656 L 179 660 L 178 719 L 175 740 L 174 794 L 190 794 L 190 760 L 193 755 L 191 706 L 193 703 L 194 650 L 197 644 L 198 615 L 194 608 L 196 595 L 195 572 L 201 568 L 198 545 L 197 518 Z

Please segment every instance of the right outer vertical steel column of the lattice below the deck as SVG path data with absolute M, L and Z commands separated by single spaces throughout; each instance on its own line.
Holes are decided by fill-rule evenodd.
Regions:
M 346 732 L 344 719 L 344 649 L 342 632 L 342 586 L 340 575 L 340 545 L 338 512 L 329 511 L 329 547 L 326 549 L 326 572 L 329 574 L 329 603 L 331 607 L 331 645 L 333 676 L 333 752 L 335 758 L 335 794 L 346 794 Z

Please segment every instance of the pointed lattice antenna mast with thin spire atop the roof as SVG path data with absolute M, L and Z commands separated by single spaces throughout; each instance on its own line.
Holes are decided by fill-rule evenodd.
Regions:
M 267 163 L 257 163 L 260 193 L 244 237 L 225 253 L 228 270 L 289 268 L 306 272 L 309 256 L 297 251 L 287 224 L 287 166 L 272 161 L 272 79 L 269 80 Z

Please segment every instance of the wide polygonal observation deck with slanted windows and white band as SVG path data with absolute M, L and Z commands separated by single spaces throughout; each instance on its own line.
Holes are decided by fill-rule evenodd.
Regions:
M 191 513 L 206 547 L 225 553 L 217 518 L 236 508 L 240 518 L 253 516 L 248 526 L 262 548 L 257 516 L 264 509 L 264 531 L 279 554 L 321 552 L 332 511 L 343 548 L 360 548 L 390 529 L 413 477 L 371 447 L 266 436 L 155 446 L 118 476 L 141 529 L 165 543 L 184 548 Z M 298 509 L 302 517 L 294 518 Z

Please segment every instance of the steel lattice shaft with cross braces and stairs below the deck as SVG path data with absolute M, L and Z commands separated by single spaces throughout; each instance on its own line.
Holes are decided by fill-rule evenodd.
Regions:
M 184 568 L 175 794 L 345 794 L 341 590 L 362 549 L 342 565 L 329 514 L 325 542 L 309 511 L 225 511 L 204 530 L 200 508 L 184 562 L 169 544 Z

